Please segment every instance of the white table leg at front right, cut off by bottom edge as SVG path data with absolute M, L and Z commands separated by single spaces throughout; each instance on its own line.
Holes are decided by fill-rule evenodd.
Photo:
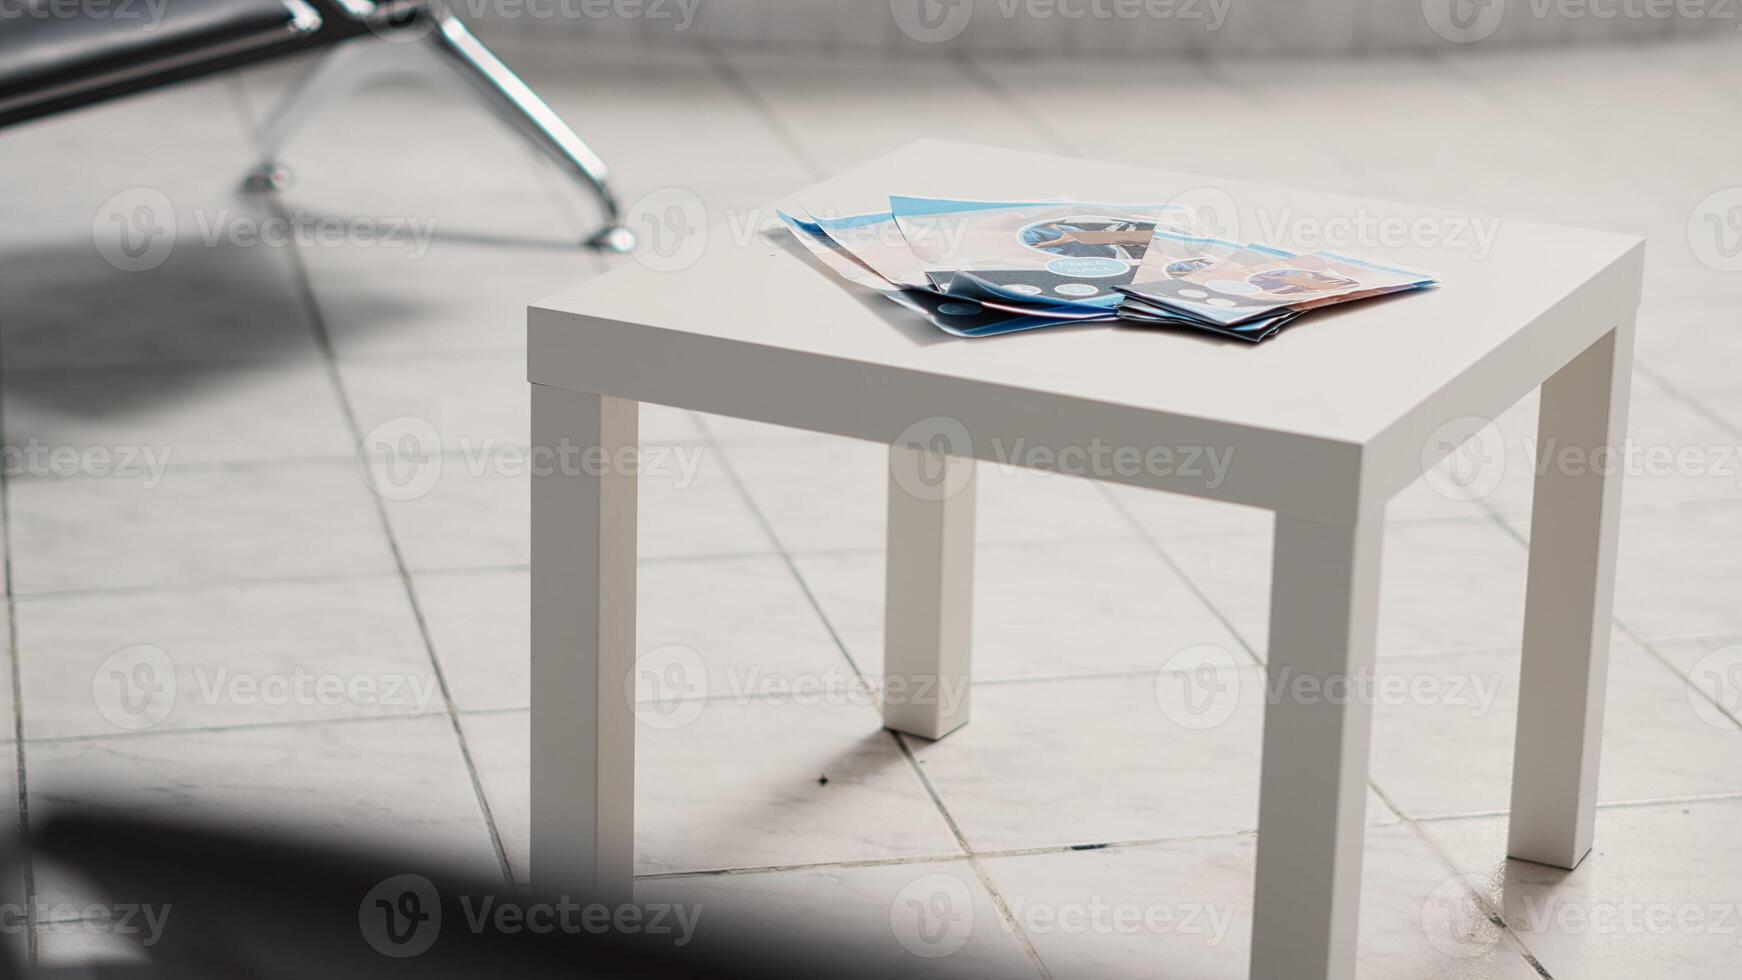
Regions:
M 1254 980 L 1355 975 L 1383 517 L 1320 524 L 1277 513 Z

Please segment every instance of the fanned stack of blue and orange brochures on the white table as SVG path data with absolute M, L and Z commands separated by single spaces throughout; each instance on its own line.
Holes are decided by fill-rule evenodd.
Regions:
M 883 212 L 780 219 L 848 282 L 963 338 L 1124 320 L 1256 343 L 1308 310 L 1437 282 L 1192 235 L 1185 216 L 1171 204 L 892 197 Z

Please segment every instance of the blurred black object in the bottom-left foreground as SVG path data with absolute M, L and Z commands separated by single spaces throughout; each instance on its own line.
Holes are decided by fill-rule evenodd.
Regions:
M 780 935 L 709 935 L 700 905 L 589 903 L 380 853 L 277 842 L 122 816 L 59 816 L 38 860 L 92 881 L 148 963 L 26 968 L 3 977 L 176 980 L 815 978 L 869 980 Z M 122 917 L 127 917 L 122 923 Z M 786 931 L 801 930 L 791 923 Z M 706 952 L 704 952 L 706 947 Z M 12 950 L 16 957 L 21 950 Z

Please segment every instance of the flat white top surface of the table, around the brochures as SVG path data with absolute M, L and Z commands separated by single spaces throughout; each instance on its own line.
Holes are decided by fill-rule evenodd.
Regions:
M 855 214 L 887 209 L 890 193 L 1195 200 L 1218 205 L 1225 226 L 1232 225 L 1240 240 L 1296 251 L 1331 247 L 1434 273 L 1441 285 L 1319 310 L 1261 345 L 1124 324 L 958 339 L 840 280 L 784 232 L 754 232 L 773 218 L 773 207 Z M 1239 214 L 1232 221 L 1230 205 Z M 613 355 L 632 353 L 636 336 L 660 331 L 805 352 L 873 373 L 996 385 L 1016 397 L 1033 392 L 1066 404 L 1084 400 L 1364 444 L 1484 360 L 1531 346 L 1589 343 L 1637 306 L 1641 265 L 1643 240 L 1629 235 L 920 141 L 766 212 L 728 216 L 709 230 L 693 261 L 627 265 L 535 303 L 535 313 L 564 317 L 535 315 L 530 343 L 533 379 L 542 383 L 561 383 L 563 369 L 547 364 L 540 371 L 540 331 L 634 326 L 631 339 L 611 346 Z M 1613 310 L 1608 324 L 1592 324 L 1583 339 L 1543 326 L 1557 308 L 1564 313 L 1570 298 L 1592 289 L 1604 306 L 1625 308 Z M 662 339 L 669 357 L 671 336 Z M 1550 352 L 1550 360 L 1564 362 L 1577 350 Z

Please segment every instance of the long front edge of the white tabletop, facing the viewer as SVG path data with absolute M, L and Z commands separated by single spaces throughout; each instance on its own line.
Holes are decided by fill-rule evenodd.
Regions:
M 643 353 L 648 345 L 674 345 L 669 350 L 681 345 L 686 353 L 634 359 L 624 350 L 615 350 L 631 343 L 629 334 L 636 334 L 632 343 Z M 862 385 L 862 369 L 868 366 L 850 359 L 625 324 L 538 305 L 528 306 L 526 360 L 526 379 L 531 385 L 786 425 L 883 446 L 902 442 L 909 428 L 932 418 L 956 420 L 972 433 L 970 451 L 962 456 L 1033 470 L 1073 473 L 1063 467 L 1036 465 L 1031 458 L 1038 453 L 1012 461 L 1002 451 L 1012 446 L 1077 447 L 1099 439 L 1110 447 L 1178 451 L 1176 460 L 1204 460 L 1205 453 L 1225 453 L 1228 467 L 1219 475 L 1205 467 L 1198 467 L 1195 475 L 1171 472 L 1073 475 L 1315 520 L 1347 524 L 1359 517 L 1362 446 L 1322 435 L 1019 390 L 996 381 L 949 378 L 909 367 L 869 366 L 876 371 L 876 383 L 868 386 Z M 674 362 L 686 362 L 690 367 L 685 373 L 671 371 L 669 366 Z M 800 390 L 796 385 L 773 388 L 688 383 L 702 376 L 732 376 L 733 367 L 746 371 L 766 367 L 768 362 L 789 366 L 768 376 L 805 376 L 808 381 L 803 388 L 829 392 L 827 411 L 800 418 L 798 409 L 784 407 L 782 402 L 789 400 L 786 393 Z M 909 392 L 911 397 L 902 397 Z M 890 404 L 918 407 L 888 407 Z M 1056 421 L 1061 411 L 1092 416 L 1097 425 L 1071 433 Z M 1092 433 L 1087 433 L 1089 430 Z M 1155 435 L 1157 430 L 1162 432 L 1160 439 Z

